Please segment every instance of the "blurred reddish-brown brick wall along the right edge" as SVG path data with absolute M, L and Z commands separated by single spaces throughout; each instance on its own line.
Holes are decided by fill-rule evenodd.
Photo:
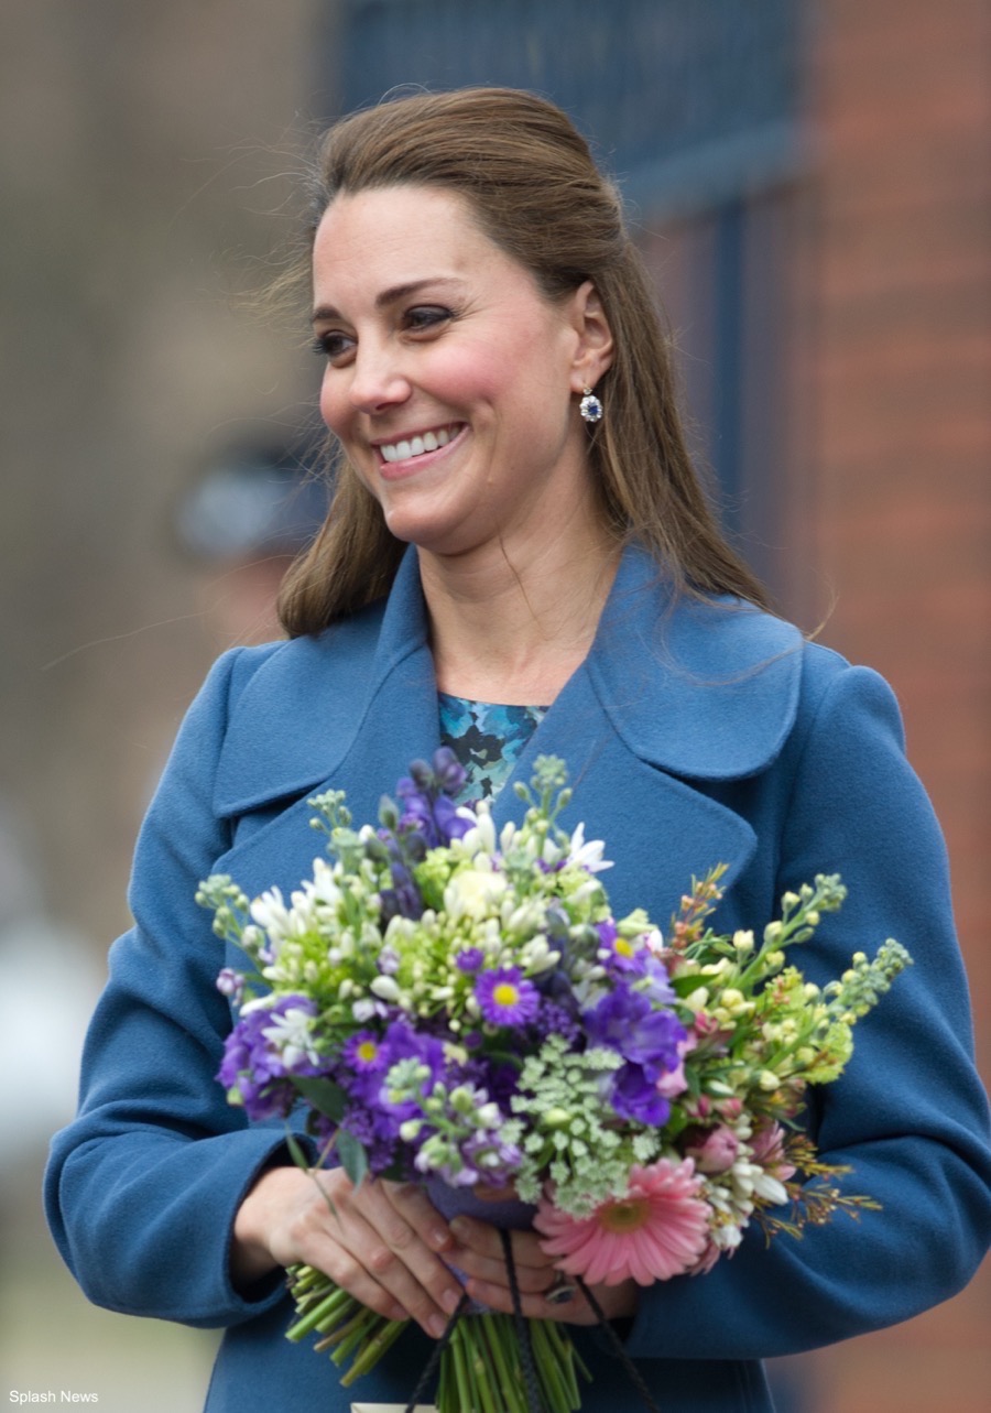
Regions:
M 946 831 L 991 1075 L 991 7 L 821 0 L 796 596 L 893 684 Z M 810 514 L 809 514 L 810 512 Z M 933 1211 L 939 1221 L 939 1211 Z M 987 1413 L 991 1269 L 814 1359 L 814 1413 Z

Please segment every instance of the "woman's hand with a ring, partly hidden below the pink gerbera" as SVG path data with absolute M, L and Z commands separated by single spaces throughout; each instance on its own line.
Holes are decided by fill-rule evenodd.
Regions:
M 513 1297 L 509 1289 L 502 1235 L 488 1222 L 472 1217 L 455 1217 L 451 1235 L 457 1241 L 452 1263 L 468 1277 L 468 1294 L 489 1310 L 512 1314 Z M 561 1320 L 568 1324 L 598 1324 L 598 1316 L 575 1286 L 574 1297 L 565 1304 L 549 1300 L 558 1272 L 554 1258 L 540 1249 L 534 1232 L 512 1232 L 513 1266 L 520 1291 L 523 1314 L 532 1320 Z M 636 1282 L 623 1280 L 618 1286 L 590 1286 L 606 1320 L 636 1313 Z

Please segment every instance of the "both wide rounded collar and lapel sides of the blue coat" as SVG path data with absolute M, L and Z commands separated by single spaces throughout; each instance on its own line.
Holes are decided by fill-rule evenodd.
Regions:
M 529 780 L 537 755 L 557 755 L 575 787 L 571 822 L 581 818 L 605 838 L 618 865 L 622 852 L 611 875 L 618 906 L 646 903 L 642 880 L 660 855 L 679 890 L 715 862 L 737 873 L 755 851 L 753 831 L 705 787 L 775 760 L 794 721 L 800 646 L 794 627 L 749 606 L 673 595 L 656 562 L 629 547 L 592 649 L 520 756 L 496 820 L 522 811 L 512 781 Z M 380 796 L 438 740 L 427 616 L 409 551 L 385 605 L 280 646 L 253 673 L 232 708 L 215 808 L 236 817 L 332 786 L 346 790 L 356 821 L 375 820 Z M 305 798 L 287 810 L 286 827 L 300 828 L 301 808 Z M 264 876 L 271 845 L 280 853 L 277 841 L 266 842 L 259 886 L 278 880 Z M 252 839 L 247 855 L 256 853 Z M 236 872 L 233 855 L 229 866 Z

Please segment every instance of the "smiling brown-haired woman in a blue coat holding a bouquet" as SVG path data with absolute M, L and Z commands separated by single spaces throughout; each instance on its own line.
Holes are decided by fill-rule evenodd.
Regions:
M 416 1186 L 314 1181 L 277 1122 L 226 1104 L 223 955 L 194 894 L 215 872 L 294 887 L 315 790 L 375 818 L 382 788 L 445 743 L 500 825 L 522 808 L 512 781 L 557 755 L 574 818 L 616 841 L 628 906 L 666 917 L 725 859 L 734 931 L 828 869 L 850 901 L 807 975 L 888 935 L 915 957 L 810 1118 L 881 1211 L 769 1249 L 751 1229 L 697 1279 L 594 1287 L 664 1413 L 769 1413 L 763 1358 L 947 1299 L 991 1229 L 944 849 L 895 701 L 776 619 L 722 537 L 618 196 L 556 107 L 462 90 L 336 124 L 305 264 L 335 500 L 283 589 L 290 642 L 221 658 L 148 812 L 136 927 L 54 1140 L 59 1249 L 99 1303 L 226 1328 L 211 1413 L 349 1407 L 329 1361 L 284 1340 L 293 1263 L 416 1323 L 363 1381 L 372 1400 L 404 1406 L 461 1296 L 448 1260 L 510 1311 L 485 1204 L 452 1231 Z M 582 1406 L 631 1406 L 592 1310 L 549 1299 L 532 1232 L 512 1246 L 523 1313 L 567 1321 L 594 1372 Z

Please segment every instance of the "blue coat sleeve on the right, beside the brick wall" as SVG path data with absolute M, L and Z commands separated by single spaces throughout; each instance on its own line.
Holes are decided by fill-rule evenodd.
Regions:
M 886 684 L 845 666 L 830 677 L 776 767 L 790 777 L 787 805 L 780 838 L 762 848 L 779 851 L 778 896 L 816 873 L 841 873 L 848 887 L 794 955 L 810 979 L 841 975 L 854 951 L 874 955 L 886 937 L 913 957 L 857 1024 L 843 1078 L 811 1105 L 821 1156 L 850 1164 L 845 1191 L 882 1210 L 837 1212 L 769 1246 L 752 1226 L 710 1275 L 655 1284 L 632 1328 L 635 1356 L 773 1356 L 864 1334 L 956 1294 L 988 1246 L 988 1113 L 943 839 Z

